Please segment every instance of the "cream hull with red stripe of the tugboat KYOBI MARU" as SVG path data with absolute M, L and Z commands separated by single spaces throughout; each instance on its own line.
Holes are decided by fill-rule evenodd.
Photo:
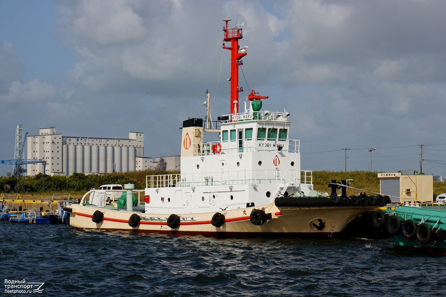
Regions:
M 274 203 L 245 209 L 220 211 L 225 216 L 225 223 L 221 227 L 211 224 L 214 213 L 181 214 L 180 225 L 172 229 L 167 226 L 170 214 L 136 213 L 140 216 L 140 223 L 136 227 L 129 226 L 129 219 L 133 212 L 100 209 L 94 206 L 71 205 L 70 225 L 75 228 L 98 230 L 132 230 L 146 233 L 197 235 L 213 237 L 335 237 L 348 222 L 361 213 L 373 209 L 375 206 L 360 207 L 277 207 Z M 271 218 L 263 225 L 256 226 L 250 221 L 253 209 L 264 209 L 271 213 Z M 95 211 L 103 213 L 100 223 L 92 221 Z

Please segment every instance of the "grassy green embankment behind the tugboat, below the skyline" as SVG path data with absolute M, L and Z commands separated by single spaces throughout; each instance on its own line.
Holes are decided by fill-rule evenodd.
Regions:
M 125 173 L 110 173 L 103 175 L 83 175 L 75 173 L 71 176 L 46 176 L 39 174 L 37 176 L 7 177 L 0 176 L 0 192 L 2 193 L 20 193 L 22 199 L 29 199 L 35 196 L 52 196 L 53 193 L 71 193 L 74 197 L 82 197 L 90 187 L 98 188 L 102 184 L 135 184 L 135 188 L 145 188 L 145 178 L 154 174 L 175 174 L 179 171 L 136 171 Z M 349 171 L 349 172 L 329 172 L 314 171 L 313 184 L 314 189 L 320 192 L 328 192 L 331 180 L 340 182 L 343 179 L 353 179 L 348 182 L 351 187 L 356 189 L 347 189 L 347 195 L 355 195 L 362 191 L 380 192 L 380 181 L 377 172 L 367 171 Z M 340 190 L 337 190 L 340 193 Z M 434 197 L 446 192 L 446 183 L 434 181 Z

